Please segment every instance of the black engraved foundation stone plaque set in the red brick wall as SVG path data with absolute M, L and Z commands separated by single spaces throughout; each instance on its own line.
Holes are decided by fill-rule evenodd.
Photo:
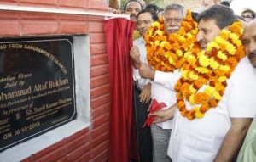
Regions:
M 0 40 L 0 152 L 76 118 L 73 38 Z

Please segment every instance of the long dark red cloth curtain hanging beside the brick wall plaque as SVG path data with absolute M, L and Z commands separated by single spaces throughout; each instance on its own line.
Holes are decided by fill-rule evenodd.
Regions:
M 104 22 L 112 106 L 110 109 L 109 161 L 138 159 L 132 122 L 132 66 L 130 49 L 135 23 L 124 18 Z

